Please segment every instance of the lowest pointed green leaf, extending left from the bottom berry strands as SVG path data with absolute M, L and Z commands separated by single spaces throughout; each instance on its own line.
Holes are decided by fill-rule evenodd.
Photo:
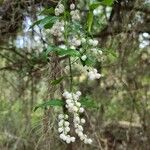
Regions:
M 34 108 L 34 111 L 36 111 L 39 108 L 43 108 L 44 109 L 44 108 L 47 108 L 49 106 L 51 106 L 51 107 L 54 107 L 54 106 L 60 106 L 60 107 L 62 107 L 62 106 L 64 106 L 64 104 L 65 103 L 64 103 L 63 100 L 60 100 L 60 99 L 51 99 L 51 100 L 48 100 L 48 101 L 46 101 L 46 102 L 44 102 L 44 103 L 36 106 Z

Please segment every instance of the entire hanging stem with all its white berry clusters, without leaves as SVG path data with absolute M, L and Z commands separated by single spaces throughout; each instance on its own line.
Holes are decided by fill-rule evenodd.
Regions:
M 93 56 L 94 59 L 99 58 L 102 55 L 102 51 L 97 48 L 98 40 L 89 37 L 87 32 L 82 30 L 82 25 L 80 24 L 82 16 L 75 4 L 72 3 L 70 5 L 69 19 L 66 17 L 65 9 L 66 4 L 62 1 L 58 2 L 54 13 L 59 19 L 53 24 L 52 28 L 50 29 L 50 33 L 57 38 L 58 41 L 63 41 L 64 44 L 60 45 L 59 47 L 62 50 L 70 49 L 70 51 L 73 51 L 73 54 L 76 54 L 75 56 L 77 56 L 77 60 L 75 63 L 72 63 L 72 55 L 69 55 L 68 66 L 65 67 L 68 67 L 70 71 L 70 91 L 64 90 L 64 93 L 62 94 L 62 97 L 65 100 L 65 109 L 67 110 L 67 113 L 61 113 L 58 116 L 58 132 L 60 133 L 60 138 L 66 143 L 69 144 L 76 141 L 76 137 L 70 135 L 71 123 L 69 122 L 69 117 L 72 116 L 74 125 L 73 128 L 76 135 L 85 144 L 91 144 L 92 139 L 88 138 L 88 136 L 84 133 L 83 125 L 86 123 L 86 121 L 83 117 L 80 117 L 85 111 L 80 103 L 81 92 L 73 92 L 72 66 L 80 64 L 80 66 L 82 66 L 82 70 L 84 70 L 84 73 L 89 80 L 93 81 L 100 79 L 102 75 L 98 73 L 98 70 L 92 65 L 86 65 L 86 62 L 91 56 Z M 81 25 L 79 27 L 79 32 L 73 32 L 73 27 L 76 24 L 79 26 Z M 72 30 L 69 30 L 69 28 Z M 77 55 L 78 53 L 80 55 Z

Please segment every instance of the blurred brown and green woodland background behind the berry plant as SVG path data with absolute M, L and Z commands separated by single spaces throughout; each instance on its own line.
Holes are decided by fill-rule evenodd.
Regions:
M 60 108 L 33 111 L 63 90 L 55 80 L 62 70 L 59 60 L 46 53 L 52 41 L 50 24 L 37 23 L 57 3 L 0 0 L 0 149 L 149 150 L 150 1 L 68 0 L 82 12 L 83 26 L 92 11 L 87 24 L 92 23 L 91 36 L 103 52 L 96 62 L 103 78 L 97 82 L 83 75 L 73 78 L 83 95 L 97 104 L 97 109 L 86 113 L 86 129 L 94 139 L 90 146 L 67 145 L 59 139 Z M 64 82 L 68 84 L 67 79 Z

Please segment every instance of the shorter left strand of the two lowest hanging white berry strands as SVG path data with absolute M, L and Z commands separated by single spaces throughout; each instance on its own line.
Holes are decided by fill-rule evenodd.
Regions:
M 60 133 L 60 138 L 65 141 L 67 144 L 75 142 L 75 137 L 70 136 L 68 132 L 70 131 L 70 123 L 67 121 L 68 115 L 60 114 L 58 116 L 58 132 Z

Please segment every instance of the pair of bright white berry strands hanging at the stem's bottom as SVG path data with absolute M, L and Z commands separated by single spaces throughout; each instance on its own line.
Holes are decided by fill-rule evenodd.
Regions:
M 75 133 L 78 135 L 81 141 L 85 144 L 91 144 L 92 139 L 87 138 L 87 135 L 83 133 L 83 124 L 85 124 L 85 119 L 80 118 L 80 113 L 84 112 L 84 108 L 81 106 L 79 102 L 79 97 L 81 96 L 81 92 L 77 91 L 76 93 L 69 93 L 68 91 L 63 93 L 63 97 L 66 100 L 65 107 L 67 108 L 68 112 L 73 115 L 73 123 L 75 128 Z M 75 142 L 75 137 L 71 137 L 68 135 L 70 131 L 69 122 L 66 121 L 68 119 L 68 115 L 59 115 L 59 123 L 58 123 L 58 131 L 60 134 L 60 138 L 66 143 Z

